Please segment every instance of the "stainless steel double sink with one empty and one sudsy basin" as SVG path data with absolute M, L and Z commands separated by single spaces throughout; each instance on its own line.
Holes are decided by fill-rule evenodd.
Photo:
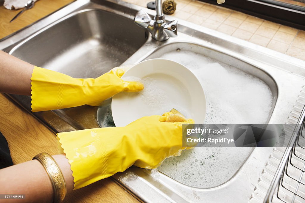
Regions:
M 185 64 L 202 80 L 208 103 L 206 122 L 299 122 L 305 61 L 180 19 L 177 38 L 155 41 L 133 23 L 140 9 L 123 1 L 77 0 L 2 39 L 0 49 L 32 64 L 83 78 L 96 78 L 118 65 L 168 58 Z M 154 11 L 145 11 L 154 15 Z M 171 16 L 166 19 L 174 20 Z M 228 93 L 239 94 L 234 95 L 236 100 L 215 99 Z M 29 97 L 8 96 L 30 112 Z M 110 105 L 108 100 L 100 108 L 82 106 L 32 114 L 53 131 L 71 131 L 99 124 L 113 126 L 107 116 Z M 230 113 L 229 106 L 242 111 Z M 263 202 L 279 165 L 270 157 L 280 159 L 283 151 L 271 147 L 196 148 L 167 159 L 159 167 L 160 173 L 132 166 L 113 178 L 145 202 Z

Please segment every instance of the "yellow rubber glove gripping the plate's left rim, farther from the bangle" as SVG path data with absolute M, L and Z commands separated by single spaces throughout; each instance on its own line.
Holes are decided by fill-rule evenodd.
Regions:
M 98 106 L 120 92 L 141 91 L 140 82 L 120 79 L 123 69 L 117 68 L 96 79 L 72 78 L 63 73 L 34 67 L 31 77 L 31 107 L 33 112 L 77 107 L 84 104 Z

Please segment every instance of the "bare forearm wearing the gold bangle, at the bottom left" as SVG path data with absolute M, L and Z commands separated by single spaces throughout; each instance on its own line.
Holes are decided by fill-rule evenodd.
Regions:
M 64 154 L 52 156 L 66 181 L 67 193 L 74 182 L 68 159 Z M 52 202 L 53 188 L 47 172 L 38 160 L 31 160 L 0 170 L 1 194 L 25 194 L 23 202 Z M 0 202 L 4 202 L 1 200 Z M 16 199 L 16 202 L 22 202 Z

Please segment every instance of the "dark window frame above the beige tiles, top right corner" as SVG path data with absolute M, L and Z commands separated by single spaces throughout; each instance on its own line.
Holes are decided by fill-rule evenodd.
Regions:
M 283 2 L 272 2 L 270 0 L 226 0 L 223 4 L 217 4 L 216 0 L 199 1 L 219 5 L 275 23 L 305 30 L 305 8 L 301 6 L 288 5 Z

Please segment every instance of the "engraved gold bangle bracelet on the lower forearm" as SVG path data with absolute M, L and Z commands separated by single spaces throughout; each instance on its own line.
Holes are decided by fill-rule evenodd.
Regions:
M 45 152 L 34 156 L 33 159 L 37 159 L 48 173 L 53 187 L 53 202 L 57 203 L 63 201 L 67 192 L 66 182 L 56 161 L 51 155 Z

